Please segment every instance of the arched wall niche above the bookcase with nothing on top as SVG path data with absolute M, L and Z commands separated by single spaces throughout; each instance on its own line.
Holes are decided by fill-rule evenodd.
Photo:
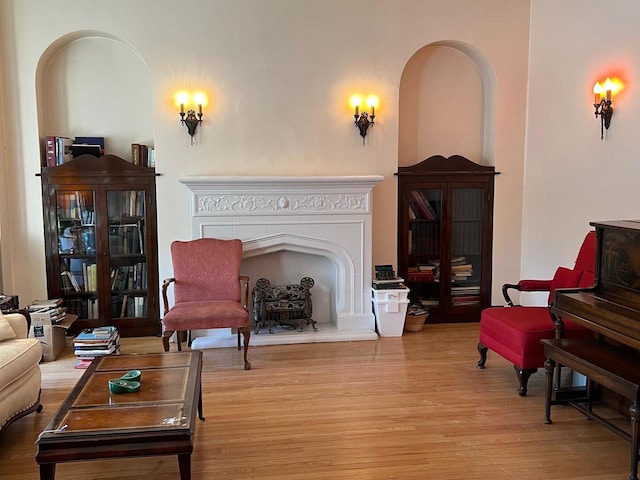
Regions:
M 398 165 L 431 155 L 495 164 L 493 68 L 462 42 L 434 42 L 407 62 L 400 80 Z

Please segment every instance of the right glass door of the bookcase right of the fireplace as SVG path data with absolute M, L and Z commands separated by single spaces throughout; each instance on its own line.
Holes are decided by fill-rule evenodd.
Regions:
M 482 188 L 453 188 L 451 304 L 480 304 L 482 278 Z

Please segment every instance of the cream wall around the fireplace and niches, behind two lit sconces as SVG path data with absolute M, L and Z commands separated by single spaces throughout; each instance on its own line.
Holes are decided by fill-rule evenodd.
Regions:
M 189 195 L 178 183 L 186 175 L 384 175 L 374 190 L 373 263 L 395 264 L 400 77 L 411 56 L 434 42 L 470 45 L 495 74 L 490 150 L 495 151 L 491 163 L 501 172 L 496 291 L 519 273 L 527 1 L 56 0 L 43 8 L 38 0 L 0 0 L 0 22 L 6 59 L 2 111 L 9 124 L 0 152 L 9 173 L 0 182 L 12 203 L 0 211 L 2 268 L 5 289 L 20 294 L 23 303 L 46 295 L 35 176 L 40 163 L 35 73 L 48 48 L 83 31 L 130 45 L 149 70 L 162 174 L 161 278 L 170 274 L 170 242 L 190 238 Z M 183 88 L 204 89 L 212 97 L 194 146 L 173 104 L 174 93 Z M 366 147 L 348 106 L 355 92 L 380 97 Z

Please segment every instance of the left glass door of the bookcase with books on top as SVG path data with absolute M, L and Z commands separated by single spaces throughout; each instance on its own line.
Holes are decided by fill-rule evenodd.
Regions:
M 69 313 L 98 318 L 95 192 L 55 193 L 60 290 Z

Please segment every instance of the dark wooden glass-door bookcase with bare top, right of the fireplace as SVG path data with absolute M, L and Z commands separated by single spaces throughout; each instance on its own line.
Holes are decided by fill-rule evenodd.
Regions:
M 462 156 L 400 167 L 398 274 L 431 322 L 480 319 L 491 303 L 495 169 Z

